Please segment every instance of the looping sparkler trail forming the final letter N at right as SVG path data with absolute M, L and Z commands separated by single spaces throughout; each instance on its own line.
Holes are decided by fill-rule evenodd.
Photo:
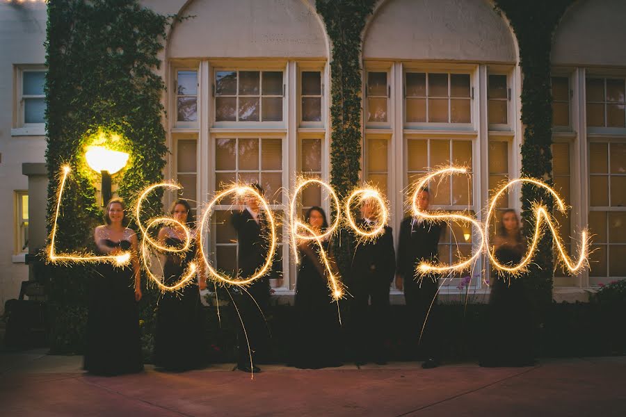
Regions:
M 545 222 L 547 224 L 547 227 L 549 227 L 550 232 L 552 233 L 552 237 L 554 238 L 554 242 L 556 243 L 556 249 L 559 251 L 559 255 L 565 267 L 568 268 L 568 270 L 572 273 L 579 272 L 581 268 L 584 268 L 584 266 L 587 265 L 588 247 L 590 244 L 588 231 L 583 230 L 581 232 L 580 254 L 578 260 L 574 262 L 567 254 L 567 252 L 565 252 L 563 239 L 561 238 L 559 231 L 556 230 L 555 222 L 552 220 L 552 215 L 550 215 L 545 206 L 541 206 L 540 204 L 533 204 L 532 211 L 536 218 L 535 232 L 533 234 L 533 240 L 526 253 L 526 256 L 524 256 L 522 261 L 520 261 L 520 263 L 518 263 L 517 265 L 510 266 L 499 263 L 495 256 L 495 252 L 492 250 L 488 243 L 489 224 L 491 216 L 495 211 L 495 206 L 498 202 L 499 197 L 501 197 L 501 195 L 508 188 L 514 186 L 517 183 L 529 183 L 538 188 L 544 188 L 548 191 L 548 193 L 552 194 L 552 196 L 556 200 L 557 208 L 559 209 L 559 211 L 561 211 L 561 213 L 565 213 L 567 209 L 567 207 L 565 206 L 565 202 L 563 202 L 563 199 L 559 197 L 559 194 L 556 193 L 556 191 L 552 187 L 548 186 L 543 181 L 539 181 L 538 179 L 533 178 L 519 178 L 508 181 L 508 183 L 504 184 L 504 186 L 502 186 L 493 196 L 489 205 L 489 210 L 487 212 L 487 219 L 485 220 L 485 246 L 487 247 L 487 253 L 492 265 L 498 272 L 508 272 L 511 275 L 520 275 L 522 272 L 525 272 L 533 258 L 533 255 L 535 254 L 535 251 L 537 250 L 539 239 L 541 238 L 541 236 L 543 236 L 544 229 L 542 227 L 542 222 Z

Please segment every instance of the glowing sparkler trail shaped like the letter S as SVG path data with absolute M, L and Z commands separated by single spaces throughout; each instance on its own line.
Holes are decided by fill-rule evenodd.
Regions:
M 471 218 L 470 216 L 458 214 L 458 213 L 429 214 L 426 211 L 421 211 L 419 209 L 419 206 L 417 205 L 417 197 L 419 196 L 419 193 L 422 190 L 424 190 L 424 188 L 426 187 L 428 182 L 431 181 L 431 179 L 438 177 L 440 175 L 453 175 L 453 174 L 467 174 L 467 168 L 465 167 L 442 168 L 440 170 L 436 170 L 435 172 L 432 172 L 431 174 L 428 174 L 426 177 L 424 177 L 424 179 L 419 181 L 419 183 L 415 187 L 415 192 L 413 193 L 413 198 L 412 198 L 413 215 L 418 218 L 421 217 L 421 218 L 435 220 L 435 221 L 439 220 L 439 221 L 447 222 L 447 220 L 453 220 L 458 223 L 472 223 L 472 225 L 476 228 L 476 231 L 479 232 L 479 236 L 480 236 L 480 243 L 478 245 L 479 249 L 476 250 L 476 253 L 474 253 L 472 256 L 466 259 L 463 259 L 453 265 L 445 265 L 443 263 L 435 264 L 435 263 L 428 263 L 428 262 L 419 263 L 419 265 L 417 265 L 416 267 L 416 272 L 417 272 L 417 275 L 419 276 L 426 275 L 430 272 L 440 272 L 440 273 L 441 272 L 448 272 L 448 273 L 460 272 L 462 270 L 470 268 L 472 266 L 472 263 L 474 263 L 474 261 L 476 261 L 476 259 L 478 259 L 479 256 L 481 255 L 481 250 L 483 249 L 485 245 L 485 235 L 483 234 L 482 225 L 478 221 Z

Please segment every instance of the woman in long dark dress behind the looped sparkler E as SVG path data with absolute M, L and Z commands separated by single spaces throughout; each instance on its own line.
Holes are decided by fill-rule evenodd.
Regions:
M 177 199 L 170 208 L 170 215 L 191 229 L 193 213 L 185 199 Z M 193 233 L 192 233 L 193 236 Z M 177 225 L 161 227 L 159 242 L 168 247 L 183 247 L 186 234 Z M 180 281 L 188 264 L 195 261 L 202 271 L 202 259 L 196 239 L 185 252 L 167 252 L 163 263 L 163 283 L 171 286 Z M 156 365 L 166 370 L 190 370 L 199 368 L 203 362 L 204 327 L 199 289 L 206 282 L 199 274 L 198 283 L 184 286 L 175 292 L 163 294 L 157 306 L 157 335 L 155 340 Z

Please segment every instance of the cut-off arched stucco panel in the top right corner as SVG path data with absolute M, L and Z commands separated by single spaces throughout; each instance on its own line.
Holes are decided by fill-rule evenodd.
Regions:
M 579 0 L 554 33 L 553 65 L 626 64 L 626 1 Z

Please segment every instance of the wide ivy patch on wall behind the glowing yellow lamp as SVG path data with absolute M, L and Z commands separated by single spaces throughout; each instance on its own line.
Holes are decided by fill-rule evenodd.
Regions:
M 113 178 L 118 195 L 131 206 L 136 193 L 159 181 L 166 163 L 161 95 L 165 88 L 153 70 L 173 17 L 157 15 L 136 0 L 56 0 L 48 4 L 46 59 L 46 161 L 48 219 L 54 213 L 61 166 L 72 167 L 58 219 L 58 250 L 93 247 L 102 209 L 94 184 L 99 175 L 85 163 L 88 145 L 106 145 L 130 154 Z M 146 204 L 146 217 L 161 210 L 161 196 Z M 89 266 L 49 265 L 49 297 L 56 309 L 52 349 L 81 347 Z M 150 310 L 152 297 L 145 297 Z M 71 317 L 65 312 L 71 311 Z M 82 311 L 82 313 L 81 313 Z M 53 312 L 54 315 L 54 312 Z

